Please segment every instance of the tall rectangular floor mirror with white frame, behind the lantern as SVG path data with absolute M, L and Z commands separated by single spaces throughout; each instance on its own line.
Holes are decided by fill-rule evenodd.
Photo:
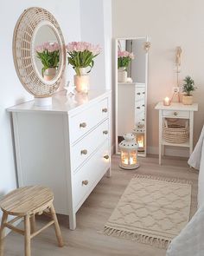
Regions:
M 132 133 L 138 155 L 146 156 L 148 36 L 117 38 L 115 45 L 116 153 L 123 135 Z

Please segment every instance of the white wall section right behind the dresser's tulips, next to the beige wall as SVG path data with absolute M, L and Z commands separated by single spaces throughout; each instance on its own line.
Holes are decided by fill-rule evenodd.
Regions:
M 112 1 L 80 0 L 81 40 L 99 44 L 94 59 L 91 89 L 112 88 Z

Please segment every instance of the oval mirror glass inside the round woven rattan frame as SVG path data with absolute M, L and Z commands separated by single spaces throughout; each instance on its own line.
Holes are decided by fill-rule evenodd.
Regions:
M 52 81 L 58 75 L 60 47 L 54 30 L 43 25 L 37 31 L 34 42 L 35 67 L 44 81 Z

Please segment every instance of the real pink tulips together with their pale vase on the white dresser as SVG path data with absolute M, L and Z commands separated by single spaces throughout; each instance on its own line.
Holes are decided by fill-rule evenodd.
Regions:
M 72 42 L 67 46 L 68 63 L 76 72 L 74 85 L 78 92 L 86 92 L 89 89 L 89 75 L 94 65 L 93 59 L 99 55 L 101 48 L 86 42 Z M 87 70 L 89 68 L 89 70 Z

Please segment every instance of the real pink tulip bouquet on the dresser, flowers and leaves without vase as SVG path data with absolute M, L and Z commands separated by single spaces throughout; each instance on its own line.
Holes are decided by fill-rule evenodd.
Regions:
M 101 48 L 86 42 L 72 42 L 67 44 L 68 63 L 73 66 L 77 75 L 80 75 L 80 68 L 89 67 L 89 73 L 94 65 L 93 58 L 99 55 Z

